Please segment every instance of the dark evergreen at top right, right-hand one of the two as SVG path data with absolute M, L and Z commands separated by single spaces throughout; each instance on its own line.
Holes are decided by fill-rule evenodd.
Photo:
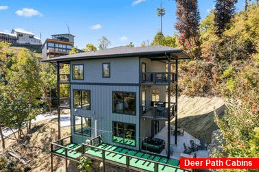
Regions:
M 216 35 L 221 36 L 224 30 L 228 28 L 228 23 L 234 16 L 235 3 L 237 2 L 237 0 L 216 0 L 214 19 Z

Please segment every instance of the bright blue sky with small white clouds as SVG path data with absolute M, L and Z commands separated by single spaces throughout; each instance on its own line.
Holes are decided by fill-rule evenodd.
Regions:
M 106 1 L 60 1 L 60 0 L 3 0 L 0 2 L 0 30 L 11 32 L 22 28 L 40 36 L 42 42 L 52 34 L 74 34 L 75 46 L 82 49 L 87 43 L 98 47 L 102 35 L 110 41 L 109 47 L 133 42 L 138 47 L 144 40 L 149 43 L 160 30 L 160 17 L 156 14 L 161 0 L 106 0 Z M 214 8 L 213 0 L 199 0 L 201 19 Z M 176 31 L 174 0 L 164 0 L 166 15 L 163 18 L 163 34 Z M 245 0 L 236 4 L 243 10 Z

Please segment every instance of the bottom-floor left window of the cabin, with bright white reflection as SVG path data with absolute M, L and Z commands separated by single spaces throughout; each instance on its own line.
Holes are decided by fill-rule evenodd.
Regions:
M 91 119 L 74 116 L 74 133 L 91 137 Z

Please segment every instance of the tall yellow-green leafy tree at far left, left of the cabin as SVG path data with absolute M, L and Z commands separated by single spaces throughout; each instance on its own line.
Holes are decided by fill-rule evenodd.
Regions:
M 23 101 L 30 104 L 27 113 L 27 121 L 31 121 L 39 113 L 38 105 L 41 101 L 41 66 L 40 59 L 32 51 L 22 49 L 17 54 L 10 71 L 8 71 L 8 86 L 12 90 L 23 95 Z M 12 99 L 15 102 L 15 99 Z M 21 101 L 21 100 L 20 100 Z M 29 123 L 30 129 L 30 123 Z

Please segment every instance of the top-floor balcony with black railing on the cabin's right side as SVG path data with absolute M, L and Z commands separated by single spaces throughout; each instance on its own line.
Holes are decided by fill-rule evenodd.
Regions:
M 168 73 L 142 73 L 142 85 L 168 85 L 169 82 L 176 81 L 177 75 L 171 73 L 168 79 Z

